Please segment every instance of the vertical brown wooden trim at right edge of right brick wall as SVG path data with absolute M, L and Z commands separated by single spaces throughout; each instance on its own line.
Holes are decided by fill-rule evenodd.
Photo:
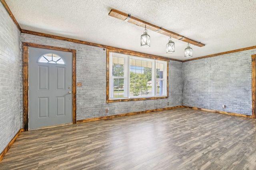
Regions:
M 256 54 L 252 55 L 252 118 L 256 118 Z

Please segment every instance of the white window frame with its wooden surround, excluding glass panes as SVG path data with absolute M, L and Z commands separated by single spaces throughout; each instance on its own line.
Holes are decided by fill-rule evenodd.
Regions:
M 126 94 L 127 96 L 124 98 L 111 98 L 110 95 L 112 95 L 112 93 L 110 92 L 112 87 L 112 78 L 113 76 L 110 75 L 111 71 L 110 69 L 112 69 L 112 57 L 111 57 L 111 53 L 116 53 L 118 55 L 118 57 L 124 57 L 124 62 L 128 62 L 128 64 L 124 64 L 124 84 L 126 83 L 126 86 L 124 86 L 124 94 Z M 165 64 L 165 69 L 166 69 L 166 75 L 163 75 L 163 79 L 166 80 L 164 81 L 164 86 L 166 86 L 166 94 L 160 95 L 160 96 L 156 96 L 157 92 L 156 92 L 156 83 L 154 84 L 153 87 L 153 83 L 152 83 L 152 90 L 154 89 L 155 92 L 155 96 L 130 96 L 130 71 L 129 71 L 129 67 L 130 67 L 130 57 L 132 57 L 133 59 L 140 59 L 142 61 L 152 61 L 152 70 L 153 67 L 156 67 L 156 63 L 164 63 Z M 110 64 L 111 63 L 111 64 Z M 111 49 L 107 49 L 107 75 L 106 75 L 106 103 L 112 103 L 112 102 L 126 102 L 126 101 L 137 101 L 137 100 L 155 100 L 155 99 L 165 99 L 168 98 L 168 64 L 169 64 L 169 60 L 167 59 L 162 59 L 161 57 L 151 57 L 150 55 L 145 55 L 145 54 L 134 54 L 134 53 L 128 53 L 125 51 L 117 51 L 117 50 L 111 50 Z M 154 68 L 155 70 L 155 68 Z M 154 77 L 153 77 L 154 76 Z M 152 72 L 152 82 L 157 82 L 157 80 L 159 78 L 156 78 L 156 73 Z M 128 82 L 127 82 L 128 81 Z M 127 85 L 128 84 L 128 85 Z M 112 96 L 113 97 L 113 96 Z

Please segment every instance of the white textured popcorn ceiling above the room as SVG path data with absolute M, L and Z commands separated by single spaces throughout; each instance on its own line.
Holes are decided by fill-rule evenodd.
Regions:
M 256 0 L 5 0 L 22 29 L 186 60 L 256 45 Z M 204 43 L 168 38 L 148 30 L 151 47 L 140 47 L 144 28 L 108 16 L 111 9 Z

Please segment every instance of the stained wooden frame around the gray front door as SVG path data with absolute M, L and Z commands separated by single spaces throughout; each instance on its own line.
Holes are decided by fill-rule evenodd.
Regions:
M 40 45 L 35 43 L 25 43 L 23 45 L 23 130 L 28 131 L 28 47 L 36 47 L 41 49 L 50 49 L 57 51 L 66 51 L 72 53 L 72 123 L 76 123 L 76 50 L 61 47 L 53 47 L 48 45 Z

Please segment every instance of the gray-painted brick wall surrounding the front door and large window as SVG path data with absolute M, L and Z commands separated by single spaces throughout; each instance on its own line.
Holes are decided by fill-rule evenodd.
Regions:
M 106 51 L 103 48 L 24 33 L 21 41 L 76 49 L 76 81 L 82 82 L 82 87 L 76 88 L 77 120 L 182 105 L 180 62 L 169 62 L 168 99 L 106 103 Z M 23 119 L 23 113 L 21 117 Z

